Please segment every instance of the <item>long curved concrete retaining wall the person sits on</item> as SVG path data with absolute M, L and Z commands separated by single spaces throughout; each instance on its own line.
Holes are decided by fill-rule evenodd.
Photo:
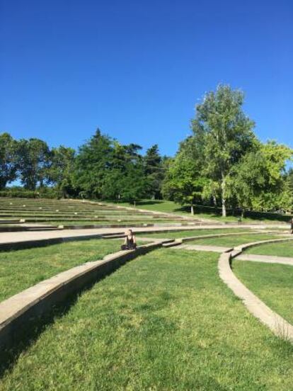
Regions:
M 0 350 L 12 348 L 19 332 L 28 330 L 36 318 L 52 310 L 54 305 L 62 304 L 127 261 L 161 247 L 163 242 L 145 244 L 136 251 L 118 251 L 102 260 L 84 263 L 4 300 L 0 303 Z

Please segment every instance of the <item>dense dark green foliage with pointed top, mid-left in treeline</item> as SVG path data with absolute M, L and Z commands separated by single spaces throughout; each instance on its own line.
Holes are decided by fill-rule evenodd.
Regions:
M 146 193 L 139 145 L 120 145 L 100 130 L 80 147 L 74 185 L 86 197 L 132 201 Z

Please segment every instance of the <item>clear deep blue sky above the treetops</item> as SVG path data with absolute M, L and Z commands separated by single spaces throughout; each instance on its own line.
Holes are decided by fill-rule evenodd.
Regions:
M 293 1 L 0 0 L 0 132 L 176 152 L 219 82 L 293 147 Z

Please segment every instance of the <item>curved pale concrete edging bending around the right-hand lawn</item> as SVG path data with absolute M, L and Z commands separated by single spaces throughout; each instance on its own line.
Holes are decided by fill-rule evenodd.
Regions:
M 292 240 L 289 239 L 270 239 L 262 242 L 252 242 L 237 246 L 233 251 L 229 253 L 222 253 L 219 257 L 218 270 L 219 276 L 224 283 L 239 297 L 243 304 L 246 306 L 249 312 L 253 314 L 257 319 L 265 324 L 269 329 L 277 336 L 293 344 L 293 326 L 277 312 L 273 311 L 265 305 L 254 293 L 251 292 L 241 281 L 235 276 L 231 268 L 231 261 L 242 253 L 243 249 L 248 247 L 258 246 L 259 244 L 286 242 Z

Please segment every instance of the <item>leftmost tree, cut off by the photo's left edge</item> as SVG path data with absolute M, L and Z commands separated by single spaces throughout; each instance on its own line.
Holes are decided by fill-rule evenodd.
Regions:
M 9 133 L 0 135 L 0 190 L 17 177 L 16 141 Z

